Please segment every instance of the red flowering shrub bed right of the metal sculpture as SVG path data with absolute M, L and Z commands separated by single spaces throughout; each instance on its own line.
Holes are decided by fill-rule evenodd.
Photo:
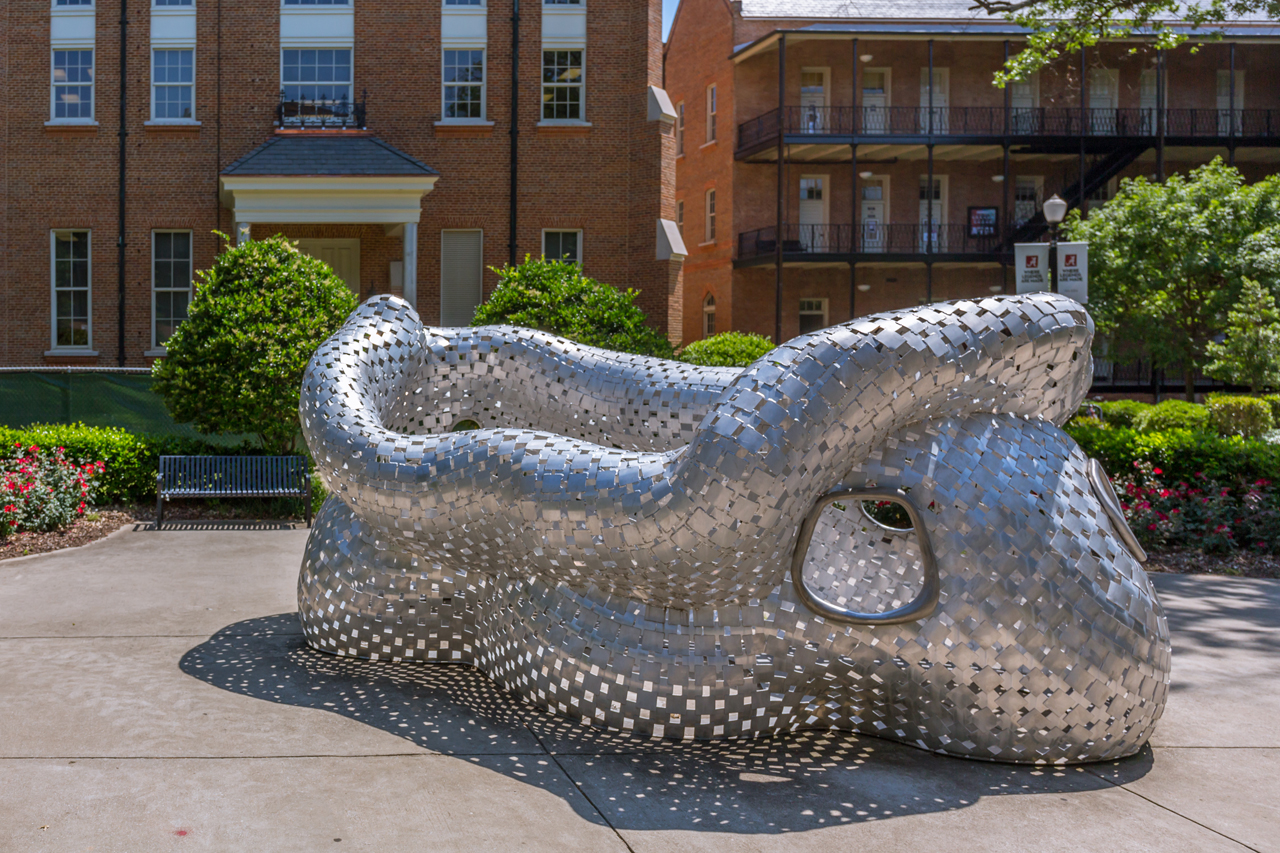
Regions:
M 1144 548 L 1280 552 L 1280 496 L 1271 480 L 1220 483 L 1199 473 L 1190 482 L 1174 482 L 1151 462 L 1133 465 L 1132 475 L 1116 478 L 1116 491 Z

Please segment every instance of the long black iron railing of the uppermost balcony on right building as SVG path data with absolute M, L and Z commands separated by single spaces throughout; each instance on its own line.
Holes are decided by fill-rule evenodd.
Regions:
M 1156 109 L 1079 109 L 1073 106 L 786 106 L 739 124 L 737 147 L 749 149 L 786 136 L 1034 136 L 1155 137 Z M 1164 110 L 1165 134 L 1233 136 L 1233 110 Z M 1234 110 L 1234 136 L 1280 140 L 1280 110 Z

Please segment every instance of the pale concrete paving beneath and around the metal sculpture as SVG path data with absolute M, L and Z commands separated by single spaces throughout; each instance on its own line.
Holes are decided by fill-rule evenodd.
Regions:
M 175 523 L 0 562 L 0 850 L 1280 850 L 1280 581 L 1157 576 L 1152 748 L 1033 770 L 637 742 L 466 667 L 317 654 L 306 534 Z

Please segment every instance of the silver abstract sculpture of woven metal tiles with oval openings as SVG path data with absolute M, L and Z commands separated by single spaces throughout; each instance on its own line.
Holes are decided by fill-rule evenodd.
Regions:
M 653 736 L 1130 754 L 1170 644 L 1106 475 L 1055 425 L 1088 389 L 1092 336 L 1079 305 L 1037 293 L 692 368 L 426 328 L 372 298 L 303 380 L 333 492 L 298 581 L 307 640 L 472 663 Z

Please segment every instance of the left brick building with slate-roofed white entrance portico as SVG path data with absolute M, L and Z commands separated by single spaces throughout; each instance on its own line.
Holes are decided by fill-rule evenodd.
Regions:
M 660 0 L 4 15 L 0 364 L 163 355 L 215 231 L 284 233 L 431 324 L 465 324 L 490 266 L 568 255 L 681 336 Z

